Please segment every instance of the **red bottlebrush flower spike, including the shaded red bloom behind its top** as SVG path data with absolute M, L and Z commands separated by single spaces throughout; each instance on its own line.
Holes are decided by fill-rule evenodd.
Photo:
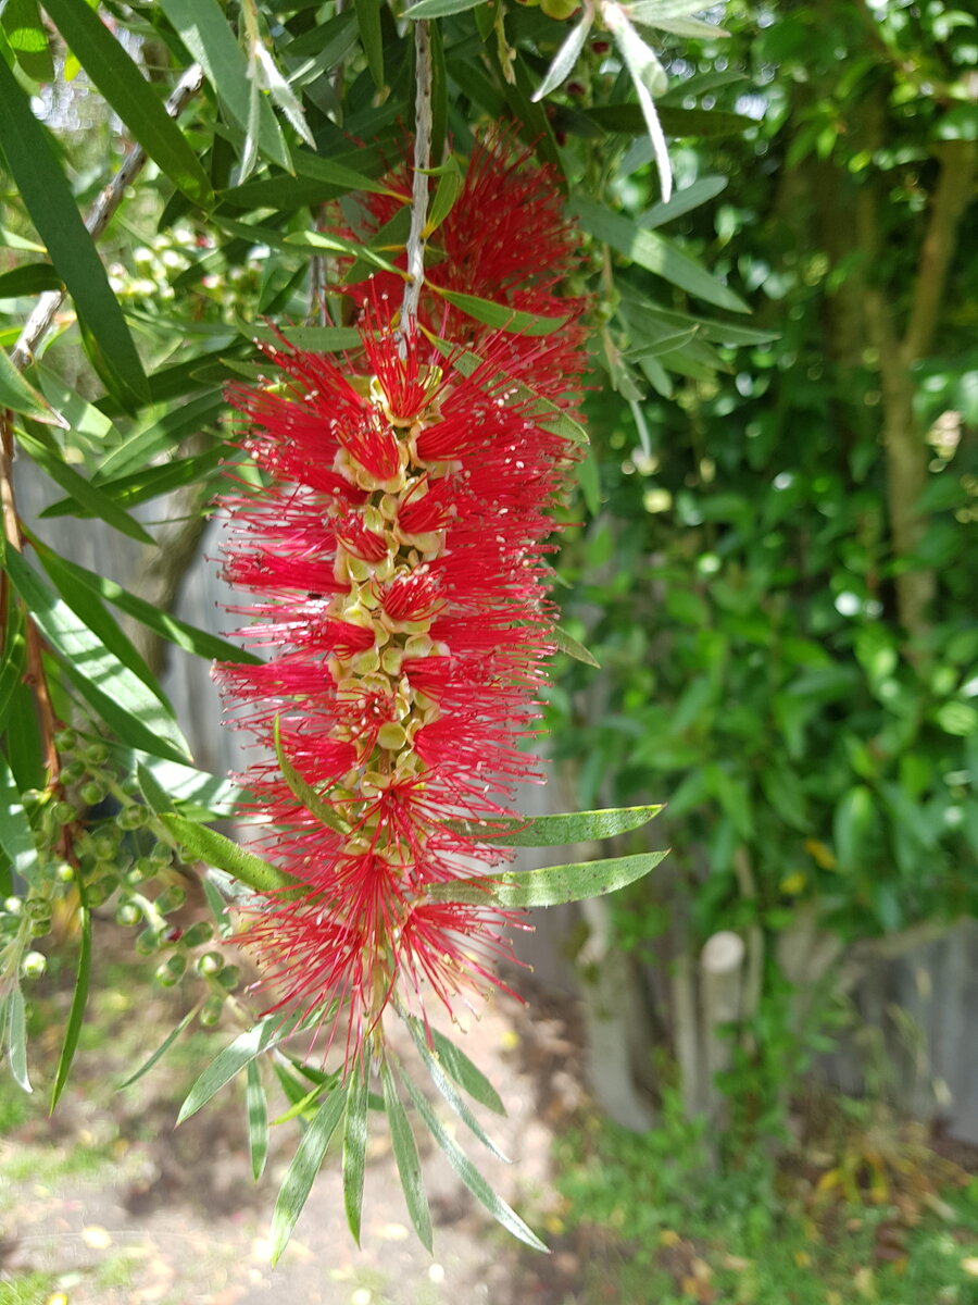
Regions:
M 482 145 L 436 269 L 443 287 L 563 318 L 559 334 L 490 333 L 429 291 L 422 324 L 481 360 L 463 376 L 422 333 L 396 333 L 385 277 L 353 287 L 356 354 L 269 347 L 284 386 L 233 395 L 267 488 L 226 500 L 224 574 L 257 595 L 235 611 L 269 660 L 218 676 L 317 795 L 275 762 L 245 776 L 259 850 L 295 881 L 248 912 L 245 938 L 273 1009 L 346 1013 L 348 1064 L 395 992 L 451 1006 L 498 983 L 509 951 L 512 915 L 425 893 L 499 861 L 459 822 L 511 814 L 535 773 L 518 743 L 553 650 L 548 536 L 571 457 L 535 393 L 572 410 L 584 367 L 583 304 L 557 292 L 574 247 L 559 207 L 546 171 Z

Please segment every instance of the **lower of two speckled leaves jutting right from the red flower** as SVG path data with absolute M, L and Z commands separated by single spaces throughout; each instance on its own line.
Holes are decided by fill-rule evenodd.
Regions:
M 479 874 L 449 883 L 432 883 L 425 897 L 429 902 L 464 902 L 469 906 L 501 907 L 522 911 L 537 906 L 563 906 L 583 898 L 615 893 L 640 880 L 668 856 L 665 852 L 639 852 L 614 856 L 604 861 L 579 861 L 571 865 L 546 865 L 540 870 L 505 870 L 502 874 Z

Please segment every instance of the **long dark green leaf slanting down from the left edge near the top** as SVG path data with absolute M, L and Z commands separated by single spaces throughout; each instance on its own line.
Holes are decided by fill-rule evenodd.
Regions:
M 196 0 L 194 0 L 196 3 Z M 14 184 L 80 320 L 98 341 L 107 384 L 124 405 L 145 402 L 149 386 L 119 300 L 48 138 L 27 97 L 0 59 L 0 141 Z

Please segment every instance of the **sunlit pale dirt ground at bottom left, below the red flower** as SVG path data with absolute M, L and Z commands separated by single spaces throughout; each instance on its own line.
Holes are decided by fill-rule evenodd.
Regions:
M 205 1052 L 215 1051 L 203 1034 L 177 1044 L 133 1088 L 108 1090 L 162 1041 L 173 1018 L 172 1001 L 147 1002 L 146 989 L 130 974 L 126 984 L 120 968 L 103 966 L 91 1032 L 55 1118 L 47 1120 L 40 1091 L 25 1107 L 13 1087 L 0 1088 L 0 1305 L 567 1305 L 582 1298 L 575 1257 L 559 1249 L 550 1257 L 523 1254 L 433 1144 L 422 1151 L 436 1224 L 429 1258 L 409 1227 L 382 1121 L 373 1125 L 368 1152 L 363 1249 L 346 1227 L 339 1158 L 331 1154 L 273 1270 L 269 1218 L 296 1144 L 295 1124 L 273 1129 L 257 1186 L 240 1091 L 226 1090 L 219 1109 L 205 1108 L 173 1131 L 179 1100 L 206 1062 Z M 39 1081 L 59 1035 L 60 1021 L 50 1017 L 63 1010 L 67 993 L 53 992 L 50 1001 L 53 1009 L 44 1011 L 38 1037 Z M 476 1156 L 467 1138 L 459 1141 L 552 1241 L 561 1224 L 550 1143 L 579 1099 L 569 1023 L 567 1007 L 535 1002 L 528 1011 L 497 997 L 463 1040 L 507 1104 L 505 1120 L 488 1112 L 481 1118 L 514 1163 Z

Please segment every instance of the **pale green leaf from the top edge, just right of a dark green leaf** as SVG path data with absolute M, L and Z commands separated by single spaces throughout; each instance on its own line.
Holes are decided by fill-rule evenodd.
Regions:
M 230 121 L 246 133 L 252 78 L 218 0 L 159 0 L 159 7 L 203 69 Z M 263 95 L 259 95 L 257 114 L 261 153 L 291 172 L 288 149 Z

